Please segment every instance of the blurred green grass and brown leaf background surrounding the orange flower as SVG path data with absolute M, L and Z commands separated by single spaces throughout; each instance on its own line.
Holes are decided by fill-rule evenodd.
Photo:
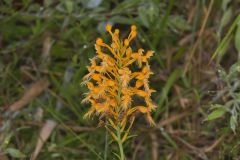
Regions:
M 155 127 L 138 117 L 128 160 L 238 160 L 239 0 L 1 0 L 0 159 L 114 160 L 80 86 L 105 25 L 154 50 Z

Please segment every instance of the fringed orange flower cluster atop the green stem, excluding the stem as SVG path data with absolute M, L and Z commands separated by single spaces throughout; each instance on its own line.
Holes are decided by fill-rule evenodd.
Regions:
M 89 89 L 83 102 L 91 103 L 84 117 L 97 114 L 110 119 L 115 125 L 125 126 L 140 112 L 146 115 L 150 124 L 154 124 L 150 115 L 156 108 L 151 100 L 154 90 L 150 89 L 148 82 L 153 74 L 148 63 L 153 51 L 144 53 L 140 48 L 134 52 L 129 46 L 137 35 L 135 25 L 131 26 L 130 34 L 123 40 L 119 38 L 119 29 L 113 31 L 108 24 L 106 31 L 111 35 L 111 44 L 97 38 L 97 55 L 90 60 L 89 73 L 83 78 L 83 84 Z M 143 104 L 134 106 L 136 98 L 141 98 Z

